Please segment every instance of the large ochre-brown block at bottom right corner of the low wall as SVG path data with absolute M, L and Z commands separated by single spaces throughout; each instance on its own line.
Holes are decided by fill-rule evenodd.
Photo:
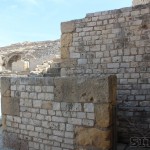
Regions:
M 102 150 L 111 148 L 111 131 L 96 128 L 76 128 L 75 141 L 77 146 L 91 146 Z

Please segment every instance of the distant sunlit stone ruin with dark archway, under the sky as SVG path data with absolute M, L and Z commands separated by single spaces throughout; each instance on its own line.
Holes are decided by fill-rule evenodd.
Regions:
M 25 42 L 0 47 L 0 71 L 30 72 L 43 61 L 60 56 L 60 41 Z

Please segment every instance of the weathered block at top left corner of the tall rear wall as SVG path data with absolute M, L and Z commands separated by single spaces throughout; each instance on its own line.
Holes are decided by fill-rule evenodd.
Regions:
M 70 33 L 75 30 L 75 22 L 74 21 L 68 21 L 68 22 L 62 22 L 61 23 L 61 33 Z

